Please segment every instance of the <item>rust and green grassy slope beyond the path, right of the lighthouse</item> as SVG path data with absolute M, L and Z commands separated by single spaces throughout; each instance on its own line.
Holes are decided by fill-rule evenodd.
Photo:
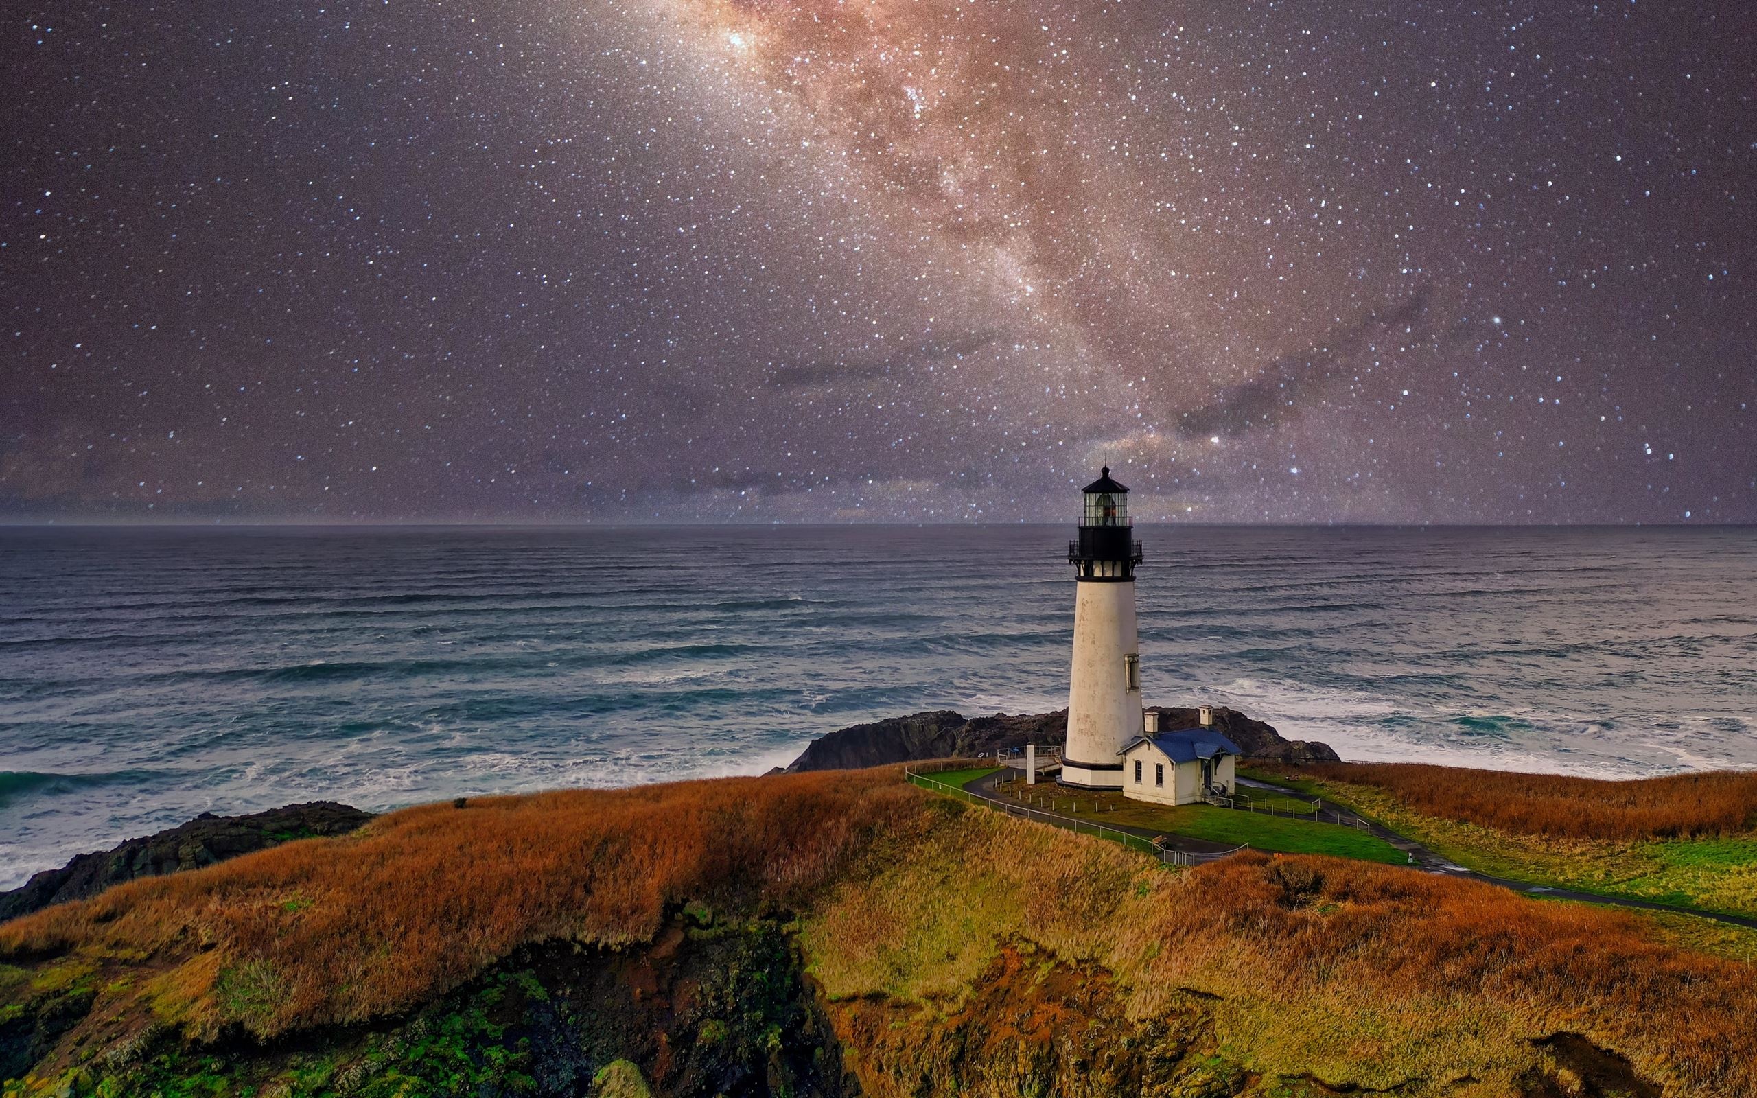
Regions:
M 1602 782 L 1362 762 L 1256 764 L 1251 773 L 1330 798 L 1493 877 L 1757 915 L 1757 775 Z M 1488 803 L 1502 780 L 1506 803 Z

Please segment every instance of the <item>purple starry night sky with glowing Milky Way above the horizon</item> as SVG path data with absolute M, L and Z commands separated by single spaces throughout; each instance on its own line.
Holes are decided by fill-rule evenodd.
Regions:
M 14 5 L 0 516 L 1757 522 L 1741 2 Z

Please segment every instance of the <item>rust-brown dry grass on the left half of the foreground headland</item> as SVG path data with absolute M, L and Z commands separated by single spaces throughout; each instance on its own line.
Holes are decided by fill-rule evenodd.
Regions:
M 427 805 L 18 919 L 0 961 L 135 966 L 135 1008 L 269 1037 L 408 1008 L 524 943 L 643 942 L 683 899 L 794 903 L 919 815 L 896 771 Z

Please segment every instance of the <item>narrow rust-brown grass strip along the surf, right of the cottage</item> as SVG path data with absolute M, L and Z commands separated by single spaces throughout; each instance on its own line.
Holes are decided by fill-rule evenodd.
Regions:
M 1427 762 L 1316 762 L 1295 773 L 1376 785 L 1416 812 L 1520 834 L 1688 838 L 1757 826 L 1757 773 L 1750 771 L 1609 782 Z

